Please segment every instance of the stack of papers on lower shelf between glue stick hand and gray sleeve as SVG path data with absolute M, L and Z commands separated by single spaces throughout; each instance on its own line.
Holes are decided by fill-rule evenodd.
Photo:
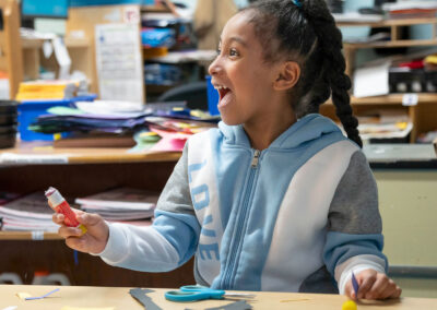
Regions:
M 158 194 L 132 188 L 116 188 L 75 199 L 82 211 L 97 213 L 109 222 L 149 225 Z

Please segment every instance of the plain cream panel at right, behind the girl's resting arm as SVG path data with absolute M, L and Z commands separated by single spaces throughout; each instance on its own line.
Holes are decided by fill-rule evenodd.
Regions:
M 390 265 L 437 266 L 437 170 L 374 170 Z M 405 297 L 437 298 L 437 278 L 394 277 Z

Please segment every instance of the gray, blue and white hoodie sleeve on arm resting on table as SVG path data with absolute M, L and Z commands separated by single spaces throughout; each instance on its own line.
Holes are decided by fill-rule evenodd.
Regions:
M 354 273 L 374 269 L 383 273 L 382 222 L 378 189 L 365 155 L 357 151 L 343 175 L 329 211 L 323 260 L 335 277 L 340 294 Z

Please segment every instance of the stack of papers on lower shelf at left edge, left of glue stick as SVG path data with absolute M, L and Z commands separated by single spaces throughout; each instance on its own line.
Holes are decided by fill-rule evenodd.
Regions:
M 59 226 L 51 220 L 54 212 L 48 206 L 47 199 L 43 191 L 34 192 L 1 204 L 1 230 L 58 231 Z

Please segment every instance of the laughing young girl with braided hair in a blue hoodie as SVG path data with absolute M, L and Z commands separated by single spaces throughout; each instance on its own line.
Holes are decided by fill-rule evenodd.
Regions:
M 341 48 L 323 0 L 240 11 L 210 67 L 223 122 L 188 141 L 153 226 L 80 213 L 87 233 L 59 234 L 72 249 L 138 271 L 170 271 L 194 254 L 198 284 L 213 288 L 399 297 L 385 274 L 377 188 Z M 317 114 L 330 96 L 349 139 Z

